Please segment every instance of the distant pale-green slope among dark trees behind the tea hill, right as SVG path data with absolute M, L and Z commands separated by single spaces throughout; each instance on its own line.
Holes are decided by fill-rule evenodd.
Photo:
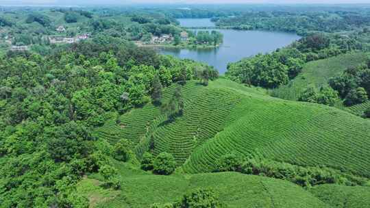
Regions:
M 325 60 L 308 62 L 304 66 L 301 74 L 291 80 L 286 86 L 281 86 L 280 88 L 272 90 L 271 94 L 281 99 L 297 101 L 307 86 L 312 85 L 317 88 L 325 86 L 328 84 L 328 79 L 330 79 L 330 77 L 338 75 L 338 73 L 343 72 L 349 66 L 361 64 L 365 59 L 365 53 L 356 52 L 330 57 Z M 370 101 L 360 105 L 354 105 L 353 107 L 343 107 L 343 105 L 338 103 L 337 107 L 361 116 L 369 106 Z

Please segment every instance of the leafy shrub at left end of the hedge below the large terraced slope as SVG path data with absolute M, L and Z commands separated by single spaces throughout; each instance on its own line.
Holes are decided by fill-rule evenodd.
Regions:
M 243 157 L 235 153 L 223 155 L 217 162 L 216 172 L 240 171 Z

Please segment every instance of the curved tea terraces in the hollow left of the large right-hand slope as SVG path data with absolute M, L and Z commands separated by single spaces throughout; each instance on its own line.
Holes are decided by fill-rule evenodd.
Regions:
M 212 89 L 196 92 L 195 100 L 188 100 L 184 114 L 167 125 L 160 125 L 151 135 L 155 141 L 154 153 L 172 153 L 182 164 L 195 146 L 222 131 L 223 123 L 238 103 L 228 90 Z

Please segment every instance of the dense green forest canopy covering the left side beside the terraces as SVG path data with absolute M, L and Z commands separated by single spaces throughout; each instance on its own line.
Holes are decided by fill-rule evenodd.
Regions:
M 47 56 L 0 57 L 1 205 L 86 205 L 86 198 L 73 195 L 86 172 L 105 172 L 107 185 L 121 187 L 109 177 L 108 157 L 127 161 L 130 144 L 122 140 L 109 147 L 92 135 L 93 128 L 114 118 L 112 113 L 149 102 L 155 77 L 170 86 L 181 79 L 181 68 L 193 79 L 199 67 L 208 68 L 109 37 L 59 47 Z M 175 161 L 164 156 L 153 166 L 171 174 Z

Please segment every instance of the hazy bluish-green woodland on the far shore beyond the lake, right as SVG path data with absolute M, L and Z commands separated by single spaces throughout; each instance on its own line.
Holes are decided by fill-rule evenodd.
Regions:
M 238 15 L 222 16 L 216 24 L 231 29 L 287 31 L 305 36 L 317 31 L 348 31 L 365 26 L 367 23 L 369 23 L 369 18 L 364 10 L 356 10 L 352 13 L 329 11 L 322 8 L 303 10 L 280 8 L 279 12 L 276 10 L 248 10 Z

